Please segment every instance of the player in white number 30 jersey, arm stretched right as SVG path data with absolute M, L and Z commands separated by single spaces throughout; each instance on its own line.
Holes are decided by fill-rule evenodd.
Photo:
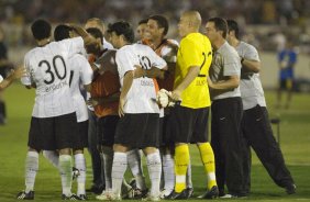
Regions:
M 18 199 L 34 199 L 34 181 L 38 169 L 40 150 L 59 150 L 59 172 L 62 176 L 62 199 L 79 199 L 71 193 L 73 135 L 76 134 L 76 113 L 69 91 L 68 58 L 92 42 L 87 35 L 51 42 L 51 24 L 36 20 L 32 33 L 37 47 L 24 58 L 27 76 L 22 78 L 26 88 L 35 88 L 36 97 L 29 133 L 29 153 L 25 161 L 25 190 Z

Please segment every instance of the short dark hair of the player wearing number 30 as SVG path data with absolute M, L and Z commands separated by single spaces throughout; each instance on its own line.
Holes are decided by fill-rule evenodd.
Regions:
M 35 20 L 31 25 L 32 35 L 35 40 L 44 40 L 51 37 L 52 26 L 46 20 Z

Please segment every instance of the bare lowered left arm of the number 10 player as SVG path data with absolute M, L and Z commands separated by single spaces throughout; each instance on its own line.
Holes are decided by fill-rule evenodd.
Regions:
M 122 91 L 120 96 L 120 105 L 119 105 L 119 115 L 120 116 L 124 115 L 125 98 L 128 96 L 128 92 L 131 89 L 133 79 L 134 79 L 134 71 L 133 70 L 126 71 L 124 75 L 123 87 L 122 87 Z

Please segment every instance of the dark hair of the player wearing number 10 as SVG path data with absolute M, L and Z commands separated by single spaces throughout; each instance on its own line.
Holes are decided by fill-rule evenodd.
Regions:
M 119 21 L 113 24 L 109 24 L 108 33 L 115 32 L 118 36 L 123 35 L 129 43 L 134 42 L 134 32 L 130 23 L 125 21 Z

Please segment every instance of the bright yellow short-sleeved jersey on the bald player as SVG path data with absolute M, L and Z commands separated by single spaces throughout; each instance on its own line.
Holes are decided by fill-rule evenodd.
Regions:
M 200 67 L 198 77 L 182 91 L 181 105 L 199 109 L 211 105 L 207 77 L 212 61 L 212 47 L 209 38 L 200 33 L 190 33 L 180 41 L 175 75 L 176 88 L 192 66 Z

